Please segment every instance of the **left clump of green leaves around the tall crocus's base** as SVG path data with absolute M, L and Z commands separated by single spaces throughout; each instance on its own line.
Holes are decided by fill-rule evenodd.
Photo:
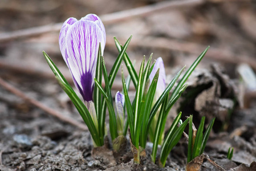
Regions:
M 113 81 L 115 80 L 117 71 L 119 70 L 120 64 L 123 61 L 123 56 L 129 42 L 131 41 L 131 38 L 132 36 L 130 36 L 130 38 L 124 44 L 124 48 L 117 56 L 116 61 L 113 64 L 111 71 L 109 72 L 109 75 L 107 74 L 104 58 L 103 56 L 101 56 L 101 50 L 99 46 L 95 73 L 96 86 L 94 89 L 94 108 L 90 109 L 88 109 L 86 105 L 82 102 L 82 100 L 80 100 L 78 95 L 76 95 L 74 89 L 72 89 L 70 84 L 59 71 L 58 67 L 56 67 L 54 62 L 52 62 L 51 58 L 46 54 L 46 52 L 43 52 L 43 55 L 46 58 L 46 61 L 49 64 L 52 72 L 54 72 L 60 86 L 70 97 L 72 103 L 75 105 L 76 109 L 78 109 L 80 116 L 82 116 L 84 123 L 86 123 L 91 133 L 92 139 L 94 140 L 94 146 L 104 145 L 104 137 L 106 132 L 105 115 L 107 107 L 109 113 L 109 132 L 111 134 L 111 139 L 113 141 L 118 137 L 115 110 L 113 109 L 113 101 L 111 95 L 111 87 L 113 85 Z M 102 74 L 104 76 L 105 89 L 101 87 Z M 103 96 L 101 96 L 101 94 Z M 91 115 L 92 113 L 94 113 L 94 111 L 96 112 L 96 116 Z

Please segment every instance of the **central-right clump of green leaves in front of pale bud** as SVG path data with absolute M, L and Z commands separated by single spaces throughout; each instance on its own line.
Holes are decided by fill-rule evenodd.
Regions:
M 121 44 L 115 38 L 116 47 L 119 51 L 122 50 Z M 208 47 L 209 48 L 209 47 Z M 176 83 L 177 79 L 181 75 L 181 72 L 184 71 L 185 67 L 178 72 L 178 74 L 173 78 L 173 80 L 168 84 L 165 91 L 162 92 L 159 99 L 153 105 L 153 97 L 156 92 L 157 80 L 159 78 L 159 70 L 156 72 L 155 77 L 151 84 L 149 84 L 149 75 L 152 72 L 154 63 L 151 65 L 152 55 L 149 57 L 147 64 L 145 64 L 145 56 L 141 62 L 139 75 L 136 74 L 135 69 L 131 61 L 129 60 L 128 55 L 124 54 L 124 62 L 128 68 L 129 75 L 131 75 L 132 82 L 136 88 L 135 99 L 131 103 L 131 100 L 128 96 L 127 86 L 124 80 L 124 74 L 122 71 L 122 82 L 123 90 L 125 96 L 125 107 L 127 109 L 128 123 L 130 128 L 130 138 L 131 146 L 133 149 L 135 162 L 140 162 L 140 153 L 145 149 L 147 143 L 149 128 L 153 121 L 153 117 L 156 115 L 157 111 L 160 109 L 159 117 L 157 119 L 155 135 L 153 139 L 153 149 L 152 149 L 152 161 L 156 161 L 157 145 L 159 144 L 160 138 L 164 133 L 166 118 L 172 108 L 173 104 L 176 103 L 178 98 L 181 96 L 182 92 L 185 91 L 187 85 L 185 84 L 186 80 L 192 74 L 194 68 L 198 65 L 201 59 L 204 57 L 206 51 L 202 52 L 198 56 L 197 60 L 192 64 L 189 70 L 184 74 L 177 87 L 174 89 L 172 96 L 169 97 L 169 92 Z M 184 131 L 186 124 L 188 124 L 188 119 L 184 121 L 177 127 L 178 121 L 181 118 L 181 113 L 176 117 L 172 126 L 169 128 L 168 135 L 164 139 L 164 143 L 161 148 L 160 154 L 160 163 L 162 166 L 165 165 L 166 158 L 170 150 L 178 143 L 181 138 L 182 132 Z

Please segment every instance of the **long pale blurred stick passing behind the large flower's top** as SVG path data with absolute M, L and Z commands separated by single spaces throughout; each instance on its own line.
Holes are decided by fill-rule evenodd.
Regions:
M 184 1 L 164 1 L 155 3 L 153 5 L 137 7 L 135 9 L 129 9 L 124 11 L 119 11 L 111 14 L 101 15 L 101 21 L 104 25 L 116 23 L 119 21 L 123 21 L 125 19 L 130 19 L 133 17 L 138 17 L 141 15 L 149 15 L 151 13 L 155 13 L 157 11 L 163 11 L 167 9 L 176 9 L 178 7 L 192 6 L 192 5 L 200 5 L 204 3 L 205 0 L 184 0 Z M 63 23 L 55 23 L 52 25 L 45 25 L 39 27 L 26 28 L 23 30 L 17 30 L 12 32 L 5 32 L 0 34 L 0 42 L 5 42 L 7 40 L 13 40 L 18 38 L 24 38 L 29 36 L 37 36 L 41 34 L 45 34 L 47 32 L 59 31 L 62 27 Z

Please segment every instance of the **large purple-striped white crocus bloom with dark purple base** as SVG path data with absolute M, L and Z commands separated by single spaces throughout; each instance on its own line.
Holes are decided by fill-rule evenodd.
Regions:
M 105 47 L 105 28 L 100 18 L 88 14 L 79 21 L 68 18 L 59 34 L 62 56 L 84 101 L 92 101 L 99 44 Z

